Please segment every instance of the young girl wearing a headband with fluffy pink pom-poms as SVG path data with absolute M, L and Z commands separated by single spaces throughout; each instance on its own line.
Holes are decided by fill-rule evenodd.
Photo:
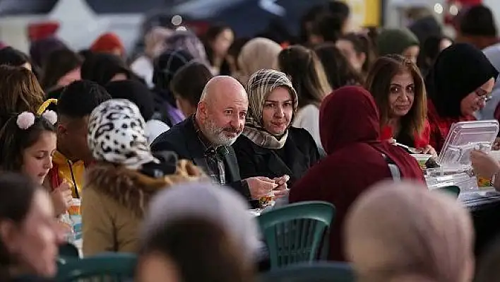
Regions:
M 0 169 L 21 172 L 43 184 L 56 151 L 56 121 L 53 111 L 40 115 L 21 112 L 9 117 L 0 129 Z M 68 184 L 54 189 L 52 199 L 56 213 L 65 213 L 72 199 Z

